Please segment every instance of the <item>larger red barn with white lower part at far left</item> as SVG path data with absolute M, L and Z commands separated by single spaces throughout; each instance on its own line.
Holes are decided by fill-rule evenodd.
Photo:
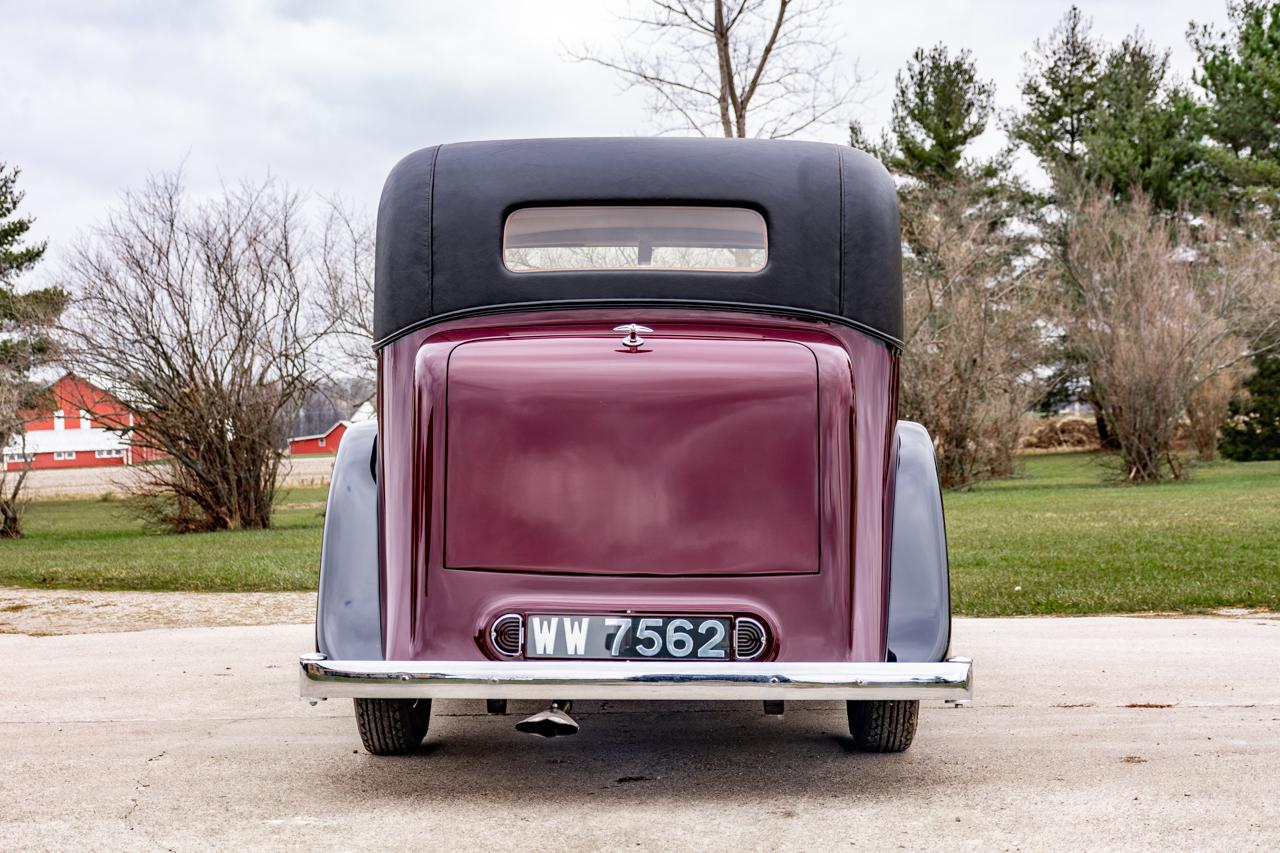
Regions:
M 4 448 L 5 470 L 133 465 L 150 459 L 133 447 L 133 416 L 113 394 L 74 374 L 49 388 L 47 407 L 26 414 L 27 433 Z M 113 426 L 105 429 L 104 419 Z

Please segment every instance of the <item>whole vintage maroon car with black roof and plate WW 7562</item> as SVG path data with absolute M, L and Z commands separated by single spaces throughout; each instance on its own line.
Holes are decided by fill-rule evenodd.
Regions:
M 897 420 L 893 182 L 854 149 L 526 140 L 402 160 L 378 423 L 325 515 L 302 695 L 411 752 L 435 698 L 844 701 L 911 743 L 948 658 L 933 446 Z

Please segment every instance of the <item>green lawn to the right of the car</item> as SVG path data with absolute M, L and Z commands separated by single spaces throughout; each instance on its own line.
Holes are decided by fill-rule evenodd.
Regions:
M 1280 610 L 1280 462 L 1133 487 L 1106 484 L 1106 461 L 1032 456 L 943 497 L 957 613 Z

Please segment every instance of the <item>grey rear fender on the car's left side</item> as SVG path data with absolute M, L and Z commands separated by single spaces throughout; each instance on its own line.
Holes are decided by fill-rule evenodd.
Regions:
M 352 424 L 333 464 L 316 602 L 316 649 L 330 658 L 383 660 L 376 439 L 376 423 Z

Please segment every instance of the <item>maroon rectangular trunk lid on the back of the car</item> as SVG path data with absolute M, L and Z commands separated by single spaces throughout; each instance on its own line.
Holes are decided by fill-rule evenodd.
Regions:
M 803 343 L 490 339 L 448 365 L 444 565 L 818 571 L 817 361 Z

